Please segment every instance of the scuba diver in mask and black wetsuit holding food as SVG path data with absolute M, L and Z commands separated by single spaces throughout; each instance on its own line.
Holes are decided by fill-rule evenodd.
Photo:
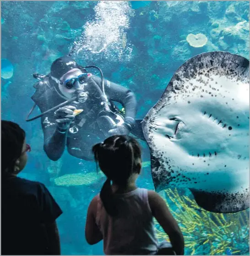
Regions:
M 86 68 L 97 68 L 101 78 L 88 73 Z M 35 105 L 28 117 L 36 105 L 42 114 L 26 121 L 42 117 L 43 148 L 49 159 L 60 159 L 66 147 L 72 156 L 93 161 L 94 144 L 112 135 L 128 135 L 130 132 L 136 135 L 136 130 L 140 130 L 140 120 L 135 119 L 135 94 L 104 80 L 100 68 L 82 67 L 65 56 L 52 63 L 50 74 L 36 73 L 33 76 L 39 82 L 34 85 L 37 89 L 32 96 Z M 113 101 L 120 102 L 125 113 Z M 144 139 L 142 131 L 138 134 Z

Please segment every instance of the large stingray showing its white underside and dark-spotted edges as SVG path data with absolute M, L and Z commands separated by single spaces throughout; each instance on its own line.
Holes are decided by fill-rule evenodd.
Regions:
M 249 60 L 192 57 L 142 120 L 157 192 L 189 188 L 205 210 L 249 208 Z

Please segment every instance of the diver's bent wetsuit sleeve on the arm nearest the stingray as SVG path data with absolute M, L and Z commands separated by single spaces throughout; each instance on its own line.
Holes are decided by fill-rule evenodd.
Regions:
M 94 77 L 96 83 L 102 89 L 102 80 L 99 77 Z M 130 125 L 135 125 L 137 102 L 135 94 L 128 88 L 104 80 L 104 89 L 109 101 L 120 102 L 125 108 L 125 122 Z

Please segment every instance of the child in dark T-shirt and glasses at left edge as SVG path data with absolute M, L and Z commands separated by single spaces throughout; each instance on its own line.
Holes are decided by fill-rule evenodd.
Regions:
M 1 255 L 60 255 L 62 210 L 40 182 L 17 177 L 31 150 L 25 131 L 1 121 Z

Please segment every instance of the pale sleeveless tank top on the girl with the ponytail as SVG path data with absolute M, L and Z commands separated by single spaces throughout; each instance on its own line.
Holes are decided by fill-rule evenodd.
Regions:
M 153 255 L 158 250 L 147 189 L 116 194 L 120 214 L 109 216 L 98 195 L 96 224 L 103 234 L 106 255 Z

